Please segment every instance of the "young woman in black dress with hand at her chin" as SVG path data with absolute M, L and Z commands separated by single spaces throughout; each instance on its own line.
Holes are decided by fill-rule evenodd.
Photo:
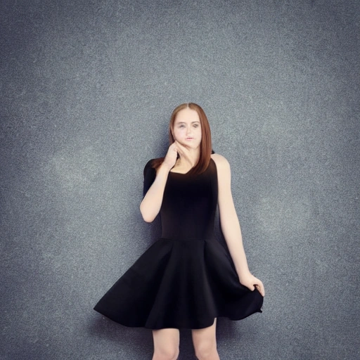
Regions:
M 140 211 L 160 213 L 162 237 L 141 255 L 94 308 L 124 326 L 153 329 L 153 360 L 176 360 L 179 329 L 192 329 L 199 360 L 219 360 L 216 319 L 262 312 L 264 285 L 248 269 L 231 195 L 229 162 L 212 152 L 210 126 L 195 103 L 179 105 L 165 158 L 144 169 Z M 231 259 L 214 240 L 219 206 Z

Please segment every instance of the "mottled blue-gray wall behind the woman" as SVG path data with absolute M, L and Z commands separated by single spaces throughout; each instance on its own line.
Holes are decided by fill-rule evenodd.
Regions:
M 158 236 L 143 166 L 186 101 L 231 163 L 266 287 L 263 314 L 219 321 L 221 359 L 359 359 L 359 13 L 2 0 L 0 359 L 151 359 L 150 330 L 92 307 Z

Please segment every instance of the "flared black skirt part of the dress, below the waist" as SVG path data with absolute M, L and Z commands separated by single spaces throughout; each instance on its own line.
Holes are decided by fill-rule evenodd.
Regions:
M 216 240 L 160 238 L 94 309 L 124 326 L 207 328 L 219 316 L 262 312 L 264 298 L 242 285 Z

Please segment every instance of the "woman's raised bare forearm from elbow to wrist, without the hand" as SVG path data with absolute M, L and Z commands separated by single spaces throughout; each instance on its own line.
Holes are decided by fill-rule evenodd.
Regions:
M 169 171 L 170 169 L 166 165 L 160 165 L 153 184 L 141 201 L 140 212 L 146 222 L 153 221 L 160 212 Z

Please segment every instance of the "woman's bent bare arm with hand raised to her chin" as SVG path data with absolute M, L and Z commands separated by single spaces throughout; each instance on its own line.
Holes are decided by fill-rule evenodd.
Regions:
M 169 146 L 164 162 L 158 168 L 153 184 L 141 201 L 140 212 L 146 222 L 154 221 L 160 212 L 162 197 L 164 195 L 165 185 L 169 171 L 174 167 L 177 158 L 176 143 Z

